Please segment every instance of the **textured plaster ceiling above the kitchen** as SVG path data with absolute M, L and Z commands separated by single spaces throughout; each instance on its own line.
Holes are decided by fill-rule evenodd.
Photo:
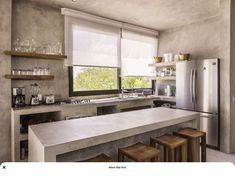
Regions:
M 219 14 L 220 0 L 31 0 L 66 7 L 157 30 L 205 20 Z

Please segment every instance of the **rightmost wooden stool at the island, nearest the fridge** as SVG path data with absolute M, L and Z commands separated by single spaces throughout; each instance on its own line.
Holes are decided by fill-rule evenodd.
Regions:
M 201 139 L 201 161 L 206 162 L 206 133 L 202 131 L 198 131 L 193 128 L 184 128 L 179 130 L 178 132 L 174 132 L 175 135 L 184 137 L 189 139 L 190 147 L 190 158 L 191 161 L 196 162 L 198 156 L 198 147 L 197 140 Z

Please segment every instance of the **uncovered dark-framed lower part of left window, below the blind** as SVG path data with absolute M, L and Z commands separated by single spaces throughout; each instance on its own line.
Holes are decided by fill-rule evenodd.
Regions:
M 76 96 L 118 93 L 118 72 L 117 68 L 70 67 L 70 94 Z

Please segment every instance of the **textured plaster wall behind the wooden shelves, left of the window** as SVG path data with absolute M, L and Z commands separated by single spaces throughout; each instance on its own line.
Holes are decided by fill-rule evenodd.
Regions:
M 27 0 L 13 0 L 13 41 L 16 38 L 34 39 L 37 45 L 64 43 L 64 18 L 59 8 L 39 5 Z M 55 94 L 56 99 L 68 98 L 68 70 L 64 61 L 12 58 L 12 68 L 50 68 L 52 81 L 13 81 L 13 87 L 26 87 L 26 101 L 30 101 L 30 84 L 38 83 L 42 94 Z

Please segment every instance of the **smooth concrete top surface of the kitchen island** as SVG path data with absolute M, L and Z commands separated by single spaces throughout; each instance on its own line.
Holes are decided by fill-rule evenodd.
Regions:
M 198 113 L 184 110 L 152 108 L 32 125 L 30 128 L 37 135 L 43 146 L 48 147 L 138 127 L 140 127 L 141 131 L 141 127 L 160 122 L 169 121 L 169 125 L 171 125 L 174 120 L 196 114 Z

